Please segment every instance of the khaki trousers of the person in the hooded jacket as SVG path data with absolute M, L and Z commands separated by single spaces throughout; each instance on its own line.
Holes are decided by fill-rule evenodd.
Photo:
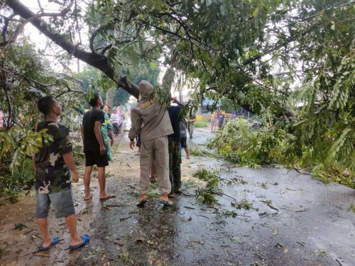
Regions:
M 171 184 L 169 179 L 168 137 L 166 135 L 141 143 L 141 177 L 139 178 L 138 190 L 141 194 L 148 192 L 153 158 L 155 158 L 159 184 L 158 192 L 169 194 Z

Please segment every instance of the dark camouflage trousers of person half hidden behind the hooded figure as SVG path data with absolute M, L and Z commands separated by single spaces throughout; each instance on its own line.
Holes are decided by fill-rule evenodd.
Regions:
M 169 178 L 171 193 L 175 193 L 181 187 L 181 153 L 180 142 L 168 138 L 169 145 Z

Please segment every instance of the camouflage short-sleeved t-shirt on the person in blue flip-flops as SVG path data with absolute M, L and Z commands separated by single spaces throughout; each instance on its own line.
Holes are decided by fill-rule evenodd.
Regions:
M 38 124 L 36 131 L 47 128 L 47 134 L 54 141 L 40 148 L 35 153 L 35 189 L 38 194 L 60 192 L 70 188 L 70 173 L 62 159 L 62 154 L 72 151 L 72 143 L 68 129 L 58 122 L 43 121 Z

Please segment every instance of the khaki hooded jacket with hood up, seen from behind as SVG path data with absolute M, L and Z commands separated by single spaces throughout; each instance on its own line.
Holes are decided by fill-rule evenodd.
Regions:
M 172 69 L 166 70 L 161 87 L 170 93 L 175 72 Z M 136 137 L 141 129 L 141 142 L 153 140 L 174 133 L 171 126 L 166 104 L 159 104 L 156 99 L 149 100 L 153 92 L 153 85 L 146 80 L 139 83 L 139 94 L 141 101 L 131 110 L 131 129 L 129 138 Z

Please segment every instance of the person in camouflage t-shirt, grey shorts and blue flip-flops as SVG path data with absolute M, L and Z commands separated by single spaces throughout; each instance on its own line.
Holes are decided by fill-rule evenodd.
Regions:
M 58 238 L 51 238 L 48 231 L 48 210 L 50 204 L 55 207 L 55 217 L 65 217 L 70 232 L 70 249 L 81 248 L 89 242 L 89 235 L 77 234 L 77 218 L 72 200 L 70 172 L 73 182 L 78 182 L 79 175 L 75 169 L 72 156 L 72 143 L 69 131 L 58 123 L 62 109 L 58 101 L 45 96 L 38 101 L 38 109 L 44 115 L 44 121 L 35 128 L 50 138 L 43 138 L 42 147 L 33 155 L 35 169 L 36 208 L 35 218 L 42 234 L 43 243 L 39 250 L 49 250 L 58 243 Z

